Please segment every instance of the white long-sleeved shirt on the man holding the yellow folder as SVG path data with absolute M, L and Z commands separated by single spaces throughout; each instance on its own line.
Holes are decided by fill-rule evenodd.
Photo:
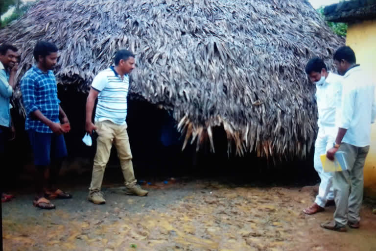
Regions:
M 371 143 L 371 123 L 375 122 L 375 84 L 359 67 L 350 69 L 343 77 L 342 103 L 337 126 L 347 129 L 342 140 L 355 147 Z

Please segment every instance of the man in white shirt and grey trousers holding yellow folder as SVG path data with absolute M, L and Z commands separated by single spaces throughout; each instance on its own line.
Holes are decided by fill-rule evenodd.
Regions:
M 333 174 L 334 220 L 322 227 L 347 231 L 346 225 L 359 228 L 363 200 L 363 167 L 371 143 L 371 123 L 376 117 L 375 84 L 356 64 L 354 51 L 341 47 L 334 53 L 338 72 L 343 75 L 342 102 L 337 117 L 338 133 L 327 157 L 344 152 L 348 170 Z

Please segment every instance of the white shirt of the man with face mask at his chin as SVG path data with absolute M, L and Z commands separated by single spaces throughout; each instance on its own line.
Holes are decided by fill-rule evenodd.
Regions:
M 336 109 L 341 105 L 342 76 L 328 72 L 322 85 L 316 84 L 316 102 L 319 119 L 317 125 L 335 126 Z

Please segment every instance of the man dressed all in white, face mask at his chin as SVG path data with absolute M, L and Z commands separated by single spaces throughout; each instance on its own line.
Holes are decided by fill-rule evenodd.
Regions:
M 308 61 L 305 66 L 305 73 L 316 85 L 315 97 L 319 114 L 317 121 L 319 131 L 315 143 L 313 165 L 320 176 L 321 182 L 315 202 L 305 208 L 303 212 L 305 214 L 315 214 L 324 211 L 326 205 L 334 204 L 332 174 L 324 172 L 320 155 L 325 154 L 333 146 L 336 133 L 336 109 L 341 102 L 342 77 L 328 72 L 324 61 L 318 57 Z

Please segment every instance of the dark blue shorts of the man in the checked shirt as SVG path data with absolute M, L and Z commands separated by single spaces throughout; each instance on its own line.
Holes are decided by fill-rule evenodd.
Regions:
M 55 133 L 42 133 L 35 130 L 27 130 L 31 148 L 34 153 L 35 165 L 49 165 L 51 159 L 60 159 L 67 156 L 64 135 Z

